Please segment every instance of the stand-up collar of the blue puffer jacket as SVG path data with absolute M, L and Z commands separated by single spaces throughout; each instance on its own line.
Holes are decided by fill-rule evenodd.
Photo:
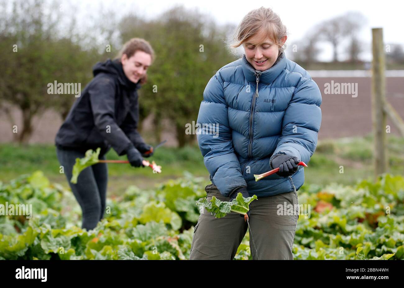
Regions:
M 277 61 L 275 64 L 264 71 L 258 71 L 255 70 L 254 67 L 251 66 L 250 62 L 247 61 L 246 55 L 243 55 L 242 58 L 242 68 L 243 68 L 243 73 L 244 77 L 246 77 L 248 82 L 253 82 L 255 83 L 256 77 L 255 77 L 255 72 L 260 72 L 261 76 L 259 78 L 259 81 L 263 84 L 271 84 L 276 77 L 284 70 L 286 67 L 286 56 L 285 52 L 282 52 L 281 55 L 279 55 Z

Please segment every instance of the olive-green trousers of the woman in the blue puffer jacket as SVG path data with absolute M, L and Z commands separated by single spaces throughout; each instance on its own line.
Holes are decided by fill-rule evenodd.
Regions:
M 230 200 L 221 195 L 214 184 L 206 186 L 205 191 L 208 200 L 212 196 L 221 201 Z M 298 218 L 296 190 L 252 201 L 249 217 L 252 259 L 293 260 L 292 246 Z M 189 260 L 232 260 L 247 228 L 244 217 L 236 212 L 215 218 L 203 208 L 194 228 Z

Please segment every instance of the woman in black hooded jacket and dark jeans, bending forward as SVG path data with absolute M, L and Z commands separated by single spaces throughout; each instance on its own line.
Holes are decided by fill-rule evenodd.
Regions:
M 93 80 L 56 134 L 57 158 L 82 209 L 83 229 L 94 229 L 103 218 L 108 171 L 106 163 L 98 163 L 84 169 L 77 184 L 72 184 L 76 158 L 84 157 L 88 149 L 101 147 L 99 159 L 105 159 L 112 147 L 118 155 L 126 154 L 133 167 L 144 167 L 143 157 L 153 154 L 153 147 L 145 144 L 137 131 L 137 90 L 145 83 L 153 60 L 149 42 L 133 38 L 125 43 L 117 59 L 97 63 Z

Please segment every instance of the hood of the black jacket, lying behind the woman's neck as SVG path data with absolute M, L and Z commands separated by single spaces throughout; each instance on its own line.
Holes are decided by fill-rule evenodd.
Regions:
M 97 64 L 95 64 L 93 67 L 93 75 L 97 76 L 97 74 L 99 73 L 107 73 L 116 76 L 120 84 L 126 86 L 131 90 L 137 90 L 141 87 L 140 81 L 138 81 L 137 83 L 133 83 L 128 79 L 128 77 L 126 77 L 119 59 L 107 59 L 104 62 L 98 62 Z

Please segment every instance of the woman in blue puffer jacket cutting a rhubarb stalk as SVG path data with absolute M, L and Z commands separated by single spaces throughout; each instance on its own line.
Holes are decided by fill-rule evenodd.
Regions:
M 232 201 L 240 192 L 257 195 L 249 223 L 231 212 L 215 218 L 205 208 L 194 229 L 190 259 L 227 259 L 236 255 L 250 225 L 253 259 L 293 260 L 304 168 L 317 145 L 322 102 L 309 73 L 284 53 L 286 27 L 270 8 L 250 11 L 240 22 L 231 47 L 244 55 L 209 80 L 198 114 L 198 145 L 215 196 Z M 276 174 L 255 181 L 279 167 Z

